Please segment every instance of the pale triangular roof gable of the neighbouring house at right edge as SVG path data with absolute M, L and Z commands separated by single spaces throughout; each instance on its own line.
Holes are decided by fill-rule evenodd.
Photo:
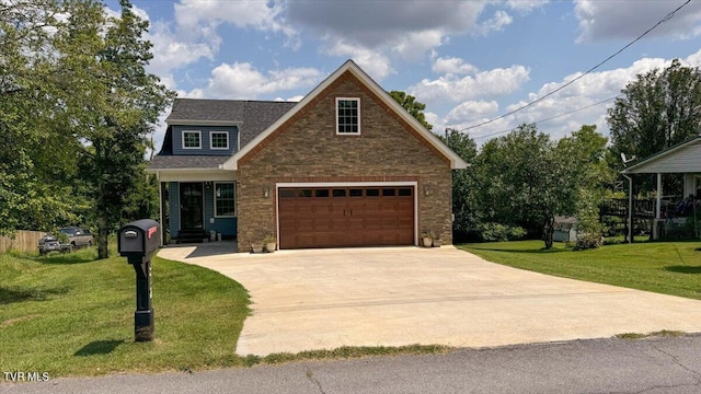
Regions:
M 624 174 L 701 172 L 701 136 L 663 150 L 621 172 Z

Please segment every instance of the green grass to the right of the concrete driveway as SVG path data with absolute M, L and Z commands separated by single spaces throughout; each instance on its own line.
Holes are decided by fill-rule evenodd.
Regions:
M 459 245 L 486 260 L 565 278 L 701 300 L 701 242 L 647 242 L 574 252 L 542 241 Z

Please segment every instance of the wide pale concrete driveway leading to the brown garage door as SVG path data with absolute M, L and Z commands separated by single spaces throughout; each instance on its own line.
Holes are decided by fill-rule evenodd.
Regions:
M 452 246 L 252 255 L 211 245 L 166 247 L 159 256 L 214 269 L 249 290 L 253 313 L 240 355 L 701 332 L 701 301 L 509 268 Z

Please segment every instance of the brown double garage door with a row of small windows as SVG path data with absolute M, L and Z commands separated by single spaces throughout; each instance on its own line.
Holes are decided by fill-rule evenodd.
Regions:
M 413 245 L 414 193 L 411 186 L 280 188 L 280 248 Z

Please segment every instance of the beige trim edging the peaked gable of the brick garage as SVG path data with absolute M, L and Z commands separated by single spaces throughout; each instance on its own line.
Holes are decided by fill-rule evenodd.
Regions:
M 320 95 L 326 89 L 331 88 L 342 78 L 347 78 L 346 73 L 354 77 L 364 89 L 367 89 L 370 94 L 376 96 L 382 104 L 387 105 L 391 113 L 395 115 L 402 123 L 409 125 L 409 127 L 417 135 L 417 138 L 424 139 L 429 147 L 439 155 L 445 158 L 451 169 L 464 169 L 468 166 L 457 153 L 446 147 L 440 139 L 423 127 L 413 116 L 411 116 L 399 103 L 390 96 L 390 94 L 380 88 L 365 71 L 363 71 L 353 60 L 347 60 L 336 71 L 322 81 L 314 90 L 312 90 L 304 99 L 299 102 L 292 109 L 283 115 L 279 119 L 267 127 L 263 132 L 257 135 L 250 143 L 244 146 L 239 152 L 232 155 L 222 167 L 225 170 L 237 170 L 239 161 L 246 160 L 246 157 L 255 154 L 260 149 L 266 144 L 266 140 L 274 138 L 276 130 L 281 128 L 285 124 L 294 121 L 299 117 L 300 113 L 308 106 L 315 103 Z

